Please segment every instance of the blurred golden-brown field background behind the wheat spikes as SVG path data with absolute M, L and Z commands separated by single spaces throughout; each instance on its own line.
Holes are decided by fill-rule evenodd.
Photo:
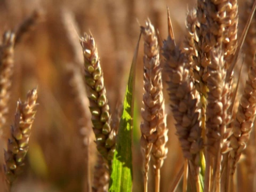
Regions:
M 4 130 L 5 138 L 10 134 L 17 100 L 25 100 L 27 91 L 36 86 L 39 106 L 29 141 L 26 167 L 14 183 L 13 191 L 86 191 L 86 156 L 90 159 L 92 180 L 97 155 L 94 136 L 85 130 L 87 135 L 91 134 L 87 151 L 67 69 L 67 66 L 83 64 L 79 36 L 86 32 L 95 38 L 110 110 L 115 114 L 124 98 L 140 25 L 145 26 L 149 18 L 159 30 L 161 45 L 167 37 L 166 6 L 169 6 L 174 36 L 181 44 L 186 13 L 195 5 L 195 0 L 0 0 L 0 34 L 5 30 L 16 29 L 34 10 L 43 11 L 43 17 L 34 30 L 15 46 L 10 113 Z M 143 93 L 142 48 L 141 41 L 135 88 L 133 191 L 143 190 L 143 161 L 139 141 Z M 165 82 L 166 74 L 163 78 Z M 183 164 L 166 91 L 165 102 L 166 113 L 169 114 L 169 152 L 161 171 L 161 191 L 169 191 Z M 0 140 L 0 149 L 4 148 L 5 139 Z M 0 151 L 0 163 L 3 164 L 3 150 Z M 150 172 L 153 173 L 152 167 Z M 149 177 L 149 191 L 153 191 L 153 183 L 153 178 Z

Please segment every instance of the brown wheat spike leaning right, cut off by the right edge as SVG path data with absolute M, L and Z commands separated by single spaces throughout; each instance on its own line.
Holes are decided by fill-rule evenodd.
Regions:
M 236 118 L 232 124 L 233 135 L 230 139 L 230 145 L 233 150 L 230 151 L 230 174 L 234 174 L 236 163 L 238 162 L 242 151 L 246 148 L 249 141 L 250 132 L 255 119 L 256 111 L 256 57 L 254 55 L 253 65 L 250 67 L 247 77 L 244 93 L 240 99 Z

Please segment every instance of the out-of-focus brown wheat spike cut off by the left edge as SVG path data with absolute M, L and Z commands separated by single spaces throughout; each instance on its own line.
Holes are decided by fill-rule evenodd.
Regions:
M 6 114 L 9 111 L 11 76 L 13 73 L 15 35 L 7 31 L 3 35 L 3 43 L 0 47 L 0 135 L 3 134 L 3 126 L 6 123 Z

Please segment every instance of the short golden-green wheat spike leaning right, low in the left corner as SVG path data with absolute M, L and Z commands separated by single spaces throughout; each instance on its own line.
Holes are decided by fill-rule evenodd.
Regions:
M 17 103 L 14 125 L 11 126 L 11 137 L 7 143 L 7 151 L 4 152 L 6 163 L 4 170 L 10 186 L 24 166 L 31 126 L 36 114 L 36 99 L 37 90 L 33 89 L 27 93 L 25 102 L 18 101 Z

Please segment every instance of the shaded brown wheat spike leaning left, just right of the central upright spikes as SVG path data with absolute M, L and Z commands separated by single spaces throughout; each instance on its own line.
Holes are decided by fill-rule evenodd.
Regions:
M 199 191 L 200 151 L 203 148 L 199 94 L 189 76 L 189 61 L 181 53 L 174 40 L 168 36 L 164 41 L 163 55 L 170 81 L 168 91 L 176 130 L 183 156 L 193 165 L 197 191 Z

